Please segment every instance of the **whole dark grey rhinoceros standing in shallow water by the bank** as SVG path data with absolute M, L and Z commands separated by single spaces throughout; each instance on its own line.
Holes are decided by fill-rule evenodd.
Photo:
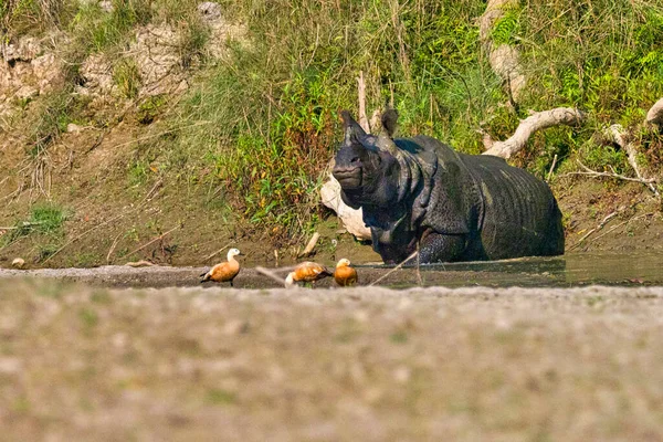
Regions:
M 361 208 L 385 263 L 419 251 L 421 263 L 564 253 L 561 212 L 546 182 L 488 155 L 428 136 L 393 138 L 398 114 L 367 134 L 341 112 L 345 138 L 332 171 L 341 198 Z

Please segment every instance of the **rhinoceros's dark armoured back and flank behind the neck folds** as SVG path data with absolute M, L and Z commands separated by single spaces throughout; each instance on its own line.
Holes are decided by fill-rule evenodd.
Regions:
M 561 212 L 546 182 L 502 158 L 465 155 L 418 136 L 434 151 L 438 169 L 423 224 L 464 234 L 460 260 L 499 260 L 564 253 Z

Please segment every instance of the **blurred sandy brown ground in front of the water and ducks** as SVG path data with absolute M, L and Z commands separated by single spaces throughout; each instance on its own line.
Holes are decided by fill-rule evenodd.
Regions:
M 0 440 L 663 440 L 663 287 L 0 280 Z

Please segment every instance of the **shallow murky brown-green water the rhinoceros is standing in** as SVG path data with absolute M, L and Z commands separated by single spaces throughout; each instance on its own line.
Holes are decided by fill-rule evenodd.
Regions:
M 366 270 L 386 266 L 365 266 Z M 358 269 L 361 271 L 361 269 Z M 371 272 L 372 273 L 372 272 Z M 570 253 L 555 257 L 429 264 L 393 272 L 383 285 L 408 287 L 569 287 L 601 285 L 663 285 L 663 253 Z

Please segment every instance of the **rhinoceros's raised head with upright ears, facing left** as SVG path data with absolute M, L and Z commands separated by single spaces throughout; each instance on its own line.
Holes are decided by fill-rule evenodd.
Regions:
M 382 116 L 380 135 L 366 134 L 347 110 L 341 112 L 345 138 L 332 173 L 340 183 L 344 201 L 352 207 L 388 207 L 397 197 L 400 155 L 391 139 L 397 114 Z

